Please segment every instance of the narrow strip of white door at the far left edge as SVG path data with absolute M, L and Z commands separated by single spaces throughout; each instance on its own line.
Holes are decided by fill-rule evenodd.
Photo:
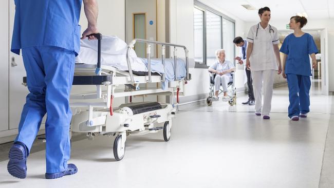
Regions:
M 3 29 L 0 29 L 0 131 L 8 130 L 8 0 L 2 1 L 0 6 L 0 23 Z

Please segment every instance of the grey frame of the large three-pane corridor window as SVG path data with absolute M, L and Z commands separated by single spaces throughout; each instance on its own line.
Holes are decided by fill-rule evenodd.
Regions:
M 224 38 L 223 38 L 223 18 L 225 18 L 225 20 L 228 20 L 230 22 L 233 23 L 233 37 L 235 37 L 235 20 L 233 20 L 231 17 L 197 1 L 194 0 L 194 8 L 203 11 L 203 60 L 204 62 L 200 63 L 200 62 L 195 62 L 195 68 L 209 68 L 209 66 L 207 66 L 207 11 L 210 11 L 211 13 L 214 13 L 218 16 L 220 16 L 220 39 L 221 39 L 221 47 L 224 46 Z M 194 20 L 193 20 L 194 22 Z M 194 31 L 193 31 L 194 32 Z M 233 40 L 233 39 L 232 39 Z M 195 49 L 195 46 L 194 46 Z M 233 48 L 233 57 L 235 57 L 235 48 Z

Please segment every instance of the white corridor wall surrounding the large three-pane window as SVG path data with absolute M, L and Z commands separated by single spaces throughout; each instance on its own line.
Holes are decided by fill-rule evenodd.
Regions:
M 201 3 L 206 4 L 209 7 L 215 7 L 205 1 Z M 171 43 L 185 45 L 189 49 L 189 58 L 194 58 L 194 1 L 193 0 L 171 0 L 171 28 L 170 37 Z M 245 36 L 244 25 L 245 22 L 239 18 L 228 14 L 224 10 L 214 8 L 215 10 L 228 15 L 235 20 L 235 36 Z M 238 54 L 236 49 L 236 54 Z M 178 57 L 183 57 L 184 52 L 178 51 Z M 236 72 L 236 87 L 237 89 L 244 87 L 243 70 L 237 70 Z M 185 93 L 188 98 L 181 98 L 180 102 L 187 102 L 188 100 L 204 99 L 209 93 L 209 74 L 207 69 L 191 68 L 192 80 L 188 82 L 185 87 Z M 192 96 L 192 97 L 190 97 Z M 183 100 L 183 101 L 182 101 Z

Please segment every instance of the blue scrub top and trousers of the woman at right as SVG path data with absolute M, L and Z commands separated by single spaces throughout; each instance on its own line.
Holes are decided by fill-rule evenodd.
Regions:
M 285 74 L 289 87 L 289 117 L 300 116 L 310 111 L 311 66 L 309 54 L 318 53 L 313 37 L 305 33 L 300 37 L 289 34 L 280 49 L 288 55 Z

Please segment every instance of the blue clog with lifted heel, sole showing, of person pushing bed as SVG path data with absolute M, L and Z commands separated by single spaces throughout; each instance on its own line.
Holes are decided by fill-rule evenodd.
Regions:
M 13 144 L 9 150 L 9 162 L 7 170 L 9 174 L 16 178 L 26 178 L 27 176 L 27 150 L 25 145 Z

